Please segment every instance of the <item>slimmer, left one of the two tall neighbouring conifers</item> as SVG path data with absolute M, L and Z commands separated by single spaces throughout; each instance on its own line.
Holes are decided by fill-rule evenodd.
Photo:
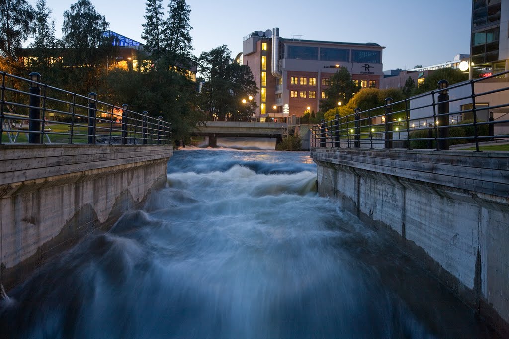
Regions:
M 148 0 L 145 10 L 146 22 L 143 26 L 142 39 L 145 40 L 145 49 L 152 55 L 153 60 L 162 56 L 162 27 L 164 22 L 162 0 Z

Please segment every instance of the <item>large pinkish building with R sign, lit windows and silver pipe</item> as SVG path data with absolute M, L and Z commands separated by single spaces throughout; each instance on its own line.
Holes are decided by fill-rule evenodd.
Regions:
M 257 115 L 295 114 L 319 110 L 329 78 L 344 66 L 361 87 L 379 87 L 382 49 L 376 43 L 348 43 L 279 37 L 279 28 L 244 37 L 243 53 L 260 93 Z

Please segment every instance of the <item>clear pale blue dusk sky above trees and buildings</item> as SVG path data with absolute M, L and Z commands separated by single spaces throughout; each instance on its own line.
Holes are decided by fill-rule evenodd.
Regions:
M 29 0 L 35 6 L 35 0 Z M 61 37 L 63 13 L 73 0 L 46 0 Z M 145 1 L 92 1 L 110 29 L 139 42 Z M 411 69 L 452 60 L 469 53 L 469 0 L 259 1 L 188 0 L 194 54 L 227 45 L 232 57 L 242 51 L 243 37 L 255 30 L 279 27 L 279 35 L 307 40 L 375 42 L 385 46 L 383 70 Z M 163 0 L 163 6 L 167 1 Z M 166 7 L 165 7 L 166 10 Z

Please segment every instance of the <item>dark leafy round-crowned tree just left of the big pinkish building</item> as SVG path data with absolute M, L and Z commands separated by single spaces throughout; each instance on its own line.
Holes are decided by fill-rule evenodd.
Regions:
M 200 103 L 210 116 L 251 115 L 256 109 L 253 101 L 242 103 L 258 93 L 252 73 L 247 65 L 232 63 L 231 53 L 222 45 L 200 55 L 200 72 L 205 78 Z

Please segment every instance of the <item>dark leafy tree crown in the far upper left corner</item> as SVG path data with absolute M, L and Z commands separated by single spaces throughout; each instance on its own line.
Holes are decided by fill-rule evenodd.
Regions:
M 34 8 L 25 0 L 0 0 L 0 56 L 15 59 L 16 49 L 29 37 Z

